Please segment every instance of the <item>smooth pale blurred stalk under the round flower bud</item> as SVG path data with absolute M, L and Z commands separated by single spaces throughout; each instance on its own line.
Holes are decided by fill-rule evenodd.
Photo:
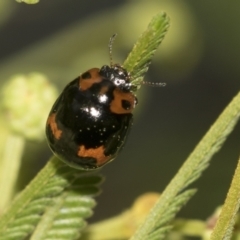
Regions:
M 13 133 L 9 133 L 5 141 L 0 167 L 0 212 L 12 198 L 25 145 L 24 138 Z

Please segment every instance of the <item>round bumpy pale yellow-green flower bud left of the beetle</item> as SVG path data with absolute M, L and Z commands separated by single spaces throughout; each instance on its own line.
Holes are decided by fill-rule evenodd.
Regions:
M 13 76 L 2 89 L 2 109 L 9 127 L 31 140 L 44 138 L 48 112 L 56 88 L 40 73 Z

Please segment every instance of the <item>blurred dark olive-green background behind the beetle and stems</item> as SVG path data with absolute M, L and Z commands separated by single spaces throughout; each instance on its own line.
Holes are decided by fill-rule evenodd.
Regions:
M 113 33 L 118 33 L 113 59 L 122 63 L 160 11 L 170 16 L 171 27 L 145 80 L 167 86 L 143 86 L 139 91 L 127 144 L 101 170 L 106 181 L 92 220 L 123 211 L 144 192 L 161 192 L 239 91 L 240 2 L 0 2 L 1 86 L 14 74 L 37 71 L 47 75 L 59 91 L 85 70 L 109 64 L 107 44 Z M 205 219 L 223 203 L 239 157 L 239 143 L 238 125 L 194 184 L 199 191 L 181 211 L 182 217 Z M 19 188 L 50 156 L 46 141 L 27 143 Z

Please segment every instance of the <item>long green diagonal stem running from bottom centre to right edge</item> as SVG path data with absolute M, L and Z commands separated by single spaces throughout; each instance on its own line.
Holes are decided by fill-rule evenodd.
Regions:
M 220 149 L 226 137 L 233 130 L 239 119 L 239 115 L 240 93 L 226 107 L 190 154 L 131 240 L 148 239 L 148 235 L 155 229 L 159 219 L 164 216 L 165 209 L 168 209 L 169 205 L 174 202 L 179 192 L 195 181 L 203 170 L 206 169 L 213 154 Z

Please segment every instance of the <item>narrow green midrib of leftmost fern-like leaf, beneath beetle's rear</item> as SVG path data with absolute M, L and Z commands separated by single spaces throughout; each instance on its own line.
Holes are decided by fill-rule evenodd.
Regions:
M 15 218 L 26 205 L 33 199 L 34 195 L 39 192 L 40 189 L 44 189 L 44 186 L 49 179 L 57 173 L 57 170 L 65 166 L 58 158 L 52 157 L 37 175 L 36 178 L 22 191 L 19 196 L 13 201 L 9 210 L 0 219 L 0 232 L 4 232 L 8 224 Z

